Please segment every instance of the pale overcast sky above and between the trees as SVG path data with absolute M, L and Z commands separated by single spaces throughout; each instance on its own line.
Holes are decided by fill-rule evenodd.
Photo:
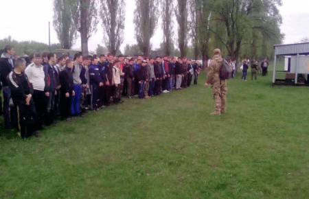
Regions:
M 309 38 L 309 1 L 308 0 L 282 0 L 279 7 L 283 17 L 282 32 L 286 35 L 284 44 L 299 42 L 301 38 Z M 10 0 L 1 2 L 0 12 L 0 39 L 12 36 L 15 40 L 36 40 L 48 44 L 48 22 L 51 22 L 51 43 L 58 43 L 53 28 L 52 0 Z M 133 10 L 134 0 L 126 0 L 125 38 L 121 50 L 128 43 L 135 44 Z M 176 22 L 175 22 L 176 25 Z M 89 40 L 89 50 L 95 51 L 102 43 L 102 26 L 98 25 L 98 32 Z M 162 40 L 161 24 L 158 25 L 155 36 L 150 42 L 153 47 L 159 47 Z M 76 40 L 73 49 L 80 48 L 80 38 Z

